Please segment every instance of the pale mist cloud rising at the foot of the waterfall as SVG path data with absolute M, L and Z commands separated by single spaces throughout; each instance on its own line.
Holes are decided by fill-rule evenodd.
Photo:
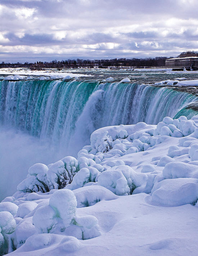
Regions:
M 66 147 L 53 147 L 21 131 L 0 129 L 0 201 L 17 191 L 32 165 L 49 165 L 65 156 Z

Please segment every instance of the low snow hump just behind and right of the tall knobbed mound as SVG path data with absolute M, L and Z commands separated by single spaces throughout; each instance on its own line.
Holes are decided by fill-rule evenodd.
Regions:
M 99 185 L 78 188 L 73 190 L 73 193 L 77 200 L 77 208 L 92 206 L 102 200 L 109 201 L 118 198 L 109 189 Z

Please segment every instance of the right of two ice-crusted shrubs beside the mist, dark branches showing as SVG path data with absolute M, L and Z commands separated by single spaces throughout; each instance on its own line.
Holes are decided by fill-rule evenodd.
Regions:
M 77 171 L 78 161 L 71 156 L 64 157 L 62 160 L 49 165 L 47 178 L 50 190 L 64 188 L 70 184 Z

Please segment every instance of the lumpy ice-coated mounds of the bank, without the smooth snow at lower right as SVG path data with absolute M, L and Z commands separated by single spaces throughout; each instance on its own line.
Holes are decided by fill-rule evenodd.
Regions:
M 0 203 L 1 254 L 53 241 L 63 251 L 80 250 L 79 240 L 108 232 L 94 210 L 80 209 L 123 196 L 147 194 L 153 207 L 197 209 L 198 116 L 108 126 L 94 131 L 90 142 L 77 158 L 30 167 L 18 192 Z

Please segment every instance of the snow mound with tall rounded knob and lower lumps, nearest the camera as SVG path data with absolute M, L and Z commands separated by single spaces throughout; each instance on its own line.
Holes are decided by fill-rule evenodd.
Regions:
M 98 220 L 94 216 L 76 216 L 77 201 L 69 189 L 55 191 L 49 204 L 37 208 L 33 224 L 37 233 L 60 233 L 78 239 L 90 239 L 101 235 Z

